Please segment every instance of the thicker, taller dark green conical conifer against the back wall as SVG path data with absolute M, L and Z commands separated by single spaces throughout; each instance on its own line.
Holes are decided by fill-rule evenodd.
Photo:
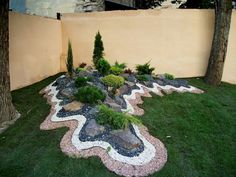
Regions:
M 103 42 L 102 42 L 102 36 L 101 34 L 98 33 L 95 36 L 95 41 L 94 41 L 94 50 L 93 50 L 93 63 L 97 69 L 97 63 L 98 61 L 103 57 Z

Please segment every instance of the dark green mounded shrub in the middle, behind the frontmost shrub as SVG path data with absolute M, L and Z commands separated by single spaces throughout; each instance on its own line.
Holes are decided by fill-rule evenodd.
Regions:
M 95 86 L 84 86 L 78 89 L 78 92 L 75 94 L 75 97 L 78 101 L 82 103 L 95 104 L 100 101 L 104 101 L 106 95 L 102 92 L 101 89 Z

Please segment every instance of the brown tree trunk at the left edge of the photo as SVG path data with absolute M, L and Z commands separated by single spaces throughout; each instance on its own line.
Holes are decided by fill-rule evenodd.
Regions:
M 17 118 L 12 104 L 9 75 L 8 0 L 0 1 L 0 124 Z

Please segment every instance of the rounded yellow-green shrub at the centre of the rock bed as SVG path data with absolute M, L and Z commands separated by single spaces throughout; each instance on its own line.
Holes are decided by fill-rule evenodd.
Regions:
M 125 79 L 123 77 L 115 76 L 113 74 L 105 76 L 101 80 L 106 86 L 113 87 L 114 89 L 121 87 L 125 83 Z

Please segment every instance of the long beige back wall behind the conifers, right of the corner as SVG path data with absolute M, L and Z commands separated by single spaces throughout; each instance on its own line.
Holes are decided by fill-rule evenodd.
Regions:
M 233 12 L 229 49 L 223 80 L 236 83 L 236 12 Z M 203 76 L 214 29 L 213 10 L 138 10 L 89 14 L 63 14 L 61 70 L 65 70 L 68 39 L 75 66 L 91 63 L 93 42 L 99 30 L 105 58 L 129 67 L 151 60 L 156 73 L 176 77 Z

